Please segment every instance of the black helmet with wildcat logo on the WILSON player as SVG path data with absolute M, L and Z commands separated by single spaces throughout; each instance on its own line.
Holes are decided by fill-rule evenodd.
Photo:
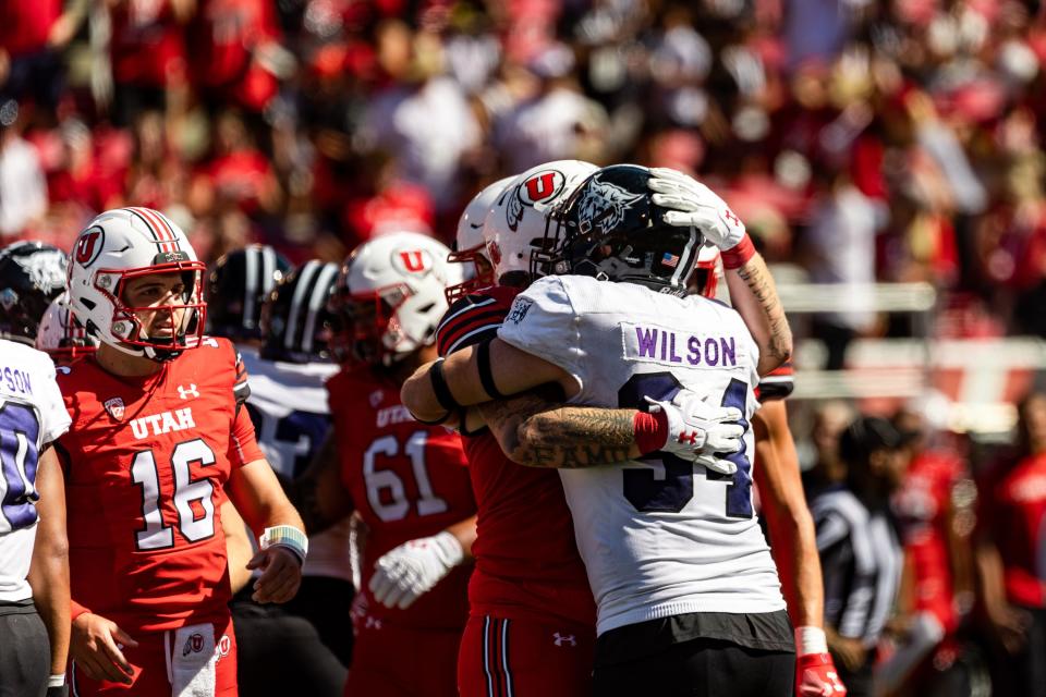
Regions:
M 613 164 L 594 172 L 554 212 L 542 248 L 531 255 L 534 278 L 592 276 L 685 295 L 703 243 L 696 228 L 662 221 L 646 182 L 650 171 Z

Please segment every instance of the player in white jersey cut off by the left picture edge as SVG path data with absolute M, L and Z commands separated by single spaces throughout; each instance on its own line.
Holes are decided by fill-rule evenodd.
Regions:
M 61 551 L 65 549 L 65 500 L 51 443 L 69 424 L 50 357 L 0 339 L 2 694 L 39 695 L 46 688 L 61 692 L 64 685 L 69 557 Z M 27 580 L 31 563 L 38 589 L 35 598 Z M 53 661 L 49 660 L 52 653 Z

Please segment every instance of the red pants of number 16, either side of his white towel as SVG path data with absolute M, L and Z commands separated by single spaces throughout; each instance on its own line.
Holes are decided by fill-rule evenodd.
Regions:
M 174 631 L 132 634 L 137 647 L 125 646 L 123 657 L 134 670 L 132 683 L 96 681 L 87 676 L 76 661 L 70 668 L 70 695 L 121 695 L 124 697 L 171 697 L 171 662 L 184 647 L 174 646 Z M 232 620 L 215 623 L 215 697 L 236 697 L 236 635 Z

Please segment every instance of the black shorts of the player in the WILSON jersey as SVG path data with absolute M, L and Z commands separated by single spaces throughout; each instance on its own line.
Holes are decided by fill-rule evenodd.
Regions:
M 611 629 L 596 639 L 597 697 L 789 697 L 788 614 L 700 612 Z

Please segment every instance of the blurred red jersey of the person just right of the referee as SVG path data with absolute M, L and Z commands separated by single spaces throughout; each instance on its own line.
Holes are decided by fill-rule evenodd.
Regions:
M 948 547 L 948 509 L 952 488 L 962 472 L 958 457 L 940 452 L 920 453 L 892 502 L 904 552 L 912 562 L 912 609 L 934 613 L 946 632 L 953 631 L 959 621 Z

